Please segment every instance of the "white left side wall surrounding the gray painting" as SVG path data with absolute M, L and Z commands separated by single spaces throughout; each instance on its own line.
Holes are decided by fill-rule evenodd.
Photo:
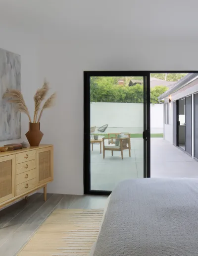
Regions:
M 20 33 L 16 29 L 10 30 L 0 27 L 0 48 L 21 56 L 21 92 L 23 93 L 30 113 L 33 115 L 33 95 L 38 86 L 38 40 L 35 36 Z M 21 139 L 0 141 L 0 146 L 7 143 L 26 140 L 28 118 L 21 115 Z

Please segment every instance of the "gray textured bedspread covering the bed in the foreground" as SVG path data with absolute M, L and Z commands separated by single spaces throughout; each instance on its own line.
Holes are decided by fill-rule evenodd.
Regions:
M 198 256 L 198 179 L 121 182 L 94 256 Z

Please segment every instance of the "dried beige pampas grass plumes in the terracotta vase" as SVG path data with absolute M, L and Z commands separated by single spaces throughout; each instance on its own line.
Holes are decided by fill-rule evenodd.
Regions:
M 34 96 L 35 110 L 34 110 L 33 123 L 39 123 L 40 119 L 41 119 L 41 116 L 43 114 L 43 111 L 54 105 L 54 100 L 55 100 L 55 96 L 56 96 L 55 93 L 53 93 L 49 97 L 49 99 L 46 100 L 43 107 L 41 108 L 41 104 L 44 101 L 48 92 L 49 92 L 49 84 L 48 84 L 48 82 L 45 81 L 42 88 L 38 89 L 36 91 L 35 96 Z M 15 108 L 17 110 L 19 110 L 20 112 L 25 113 L 28 116 L 30 123 L 32 123 L 30 113 L 29 113 L 28 108 L 27 108 L 27 106 L 25 104 L 25 101 L 23 99 L 23 95 L 20 91 L 13 90 L 13 89 L 7 89 L 6 92 L 3 94 L 2 98 L 7 99 L 7 101 L 9 103 L 13 103 Z M 39 118 L 37 120 L 39 111 L 40 111 L 40 115 L 39 115 Z

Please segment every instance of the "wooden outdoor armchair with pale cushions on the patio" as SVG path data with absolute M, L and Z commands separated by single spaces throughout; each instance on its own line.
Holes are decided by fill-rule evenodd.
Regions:
M 129 150 L 129 156 L 131 157 L 131 139 L 129 136 L 127 136 L 127 135 L 122 136 L 121 134 L 118 134 L 117 137 L 114 137 L 115 146 L 114 145 L 105 145 L 104 144 L 105 139 L 109 139 L 109 138 L 102 138 L 102 140 L 103 140 L 103 158 L 105 158 L 105 151 L 111 151 L 112 156 L 113 156 L 113 151 L 121 151 L 121 158 L 123 160 L 123 150 L 125 150 L 125 149 Z

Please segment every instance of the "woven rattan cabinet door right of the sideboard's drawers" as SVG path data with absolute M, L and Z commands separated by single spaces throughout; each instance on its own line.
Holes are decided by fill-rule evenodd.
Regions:
M 53 147 L 37 150 L 38 185 L 53 180 Z

